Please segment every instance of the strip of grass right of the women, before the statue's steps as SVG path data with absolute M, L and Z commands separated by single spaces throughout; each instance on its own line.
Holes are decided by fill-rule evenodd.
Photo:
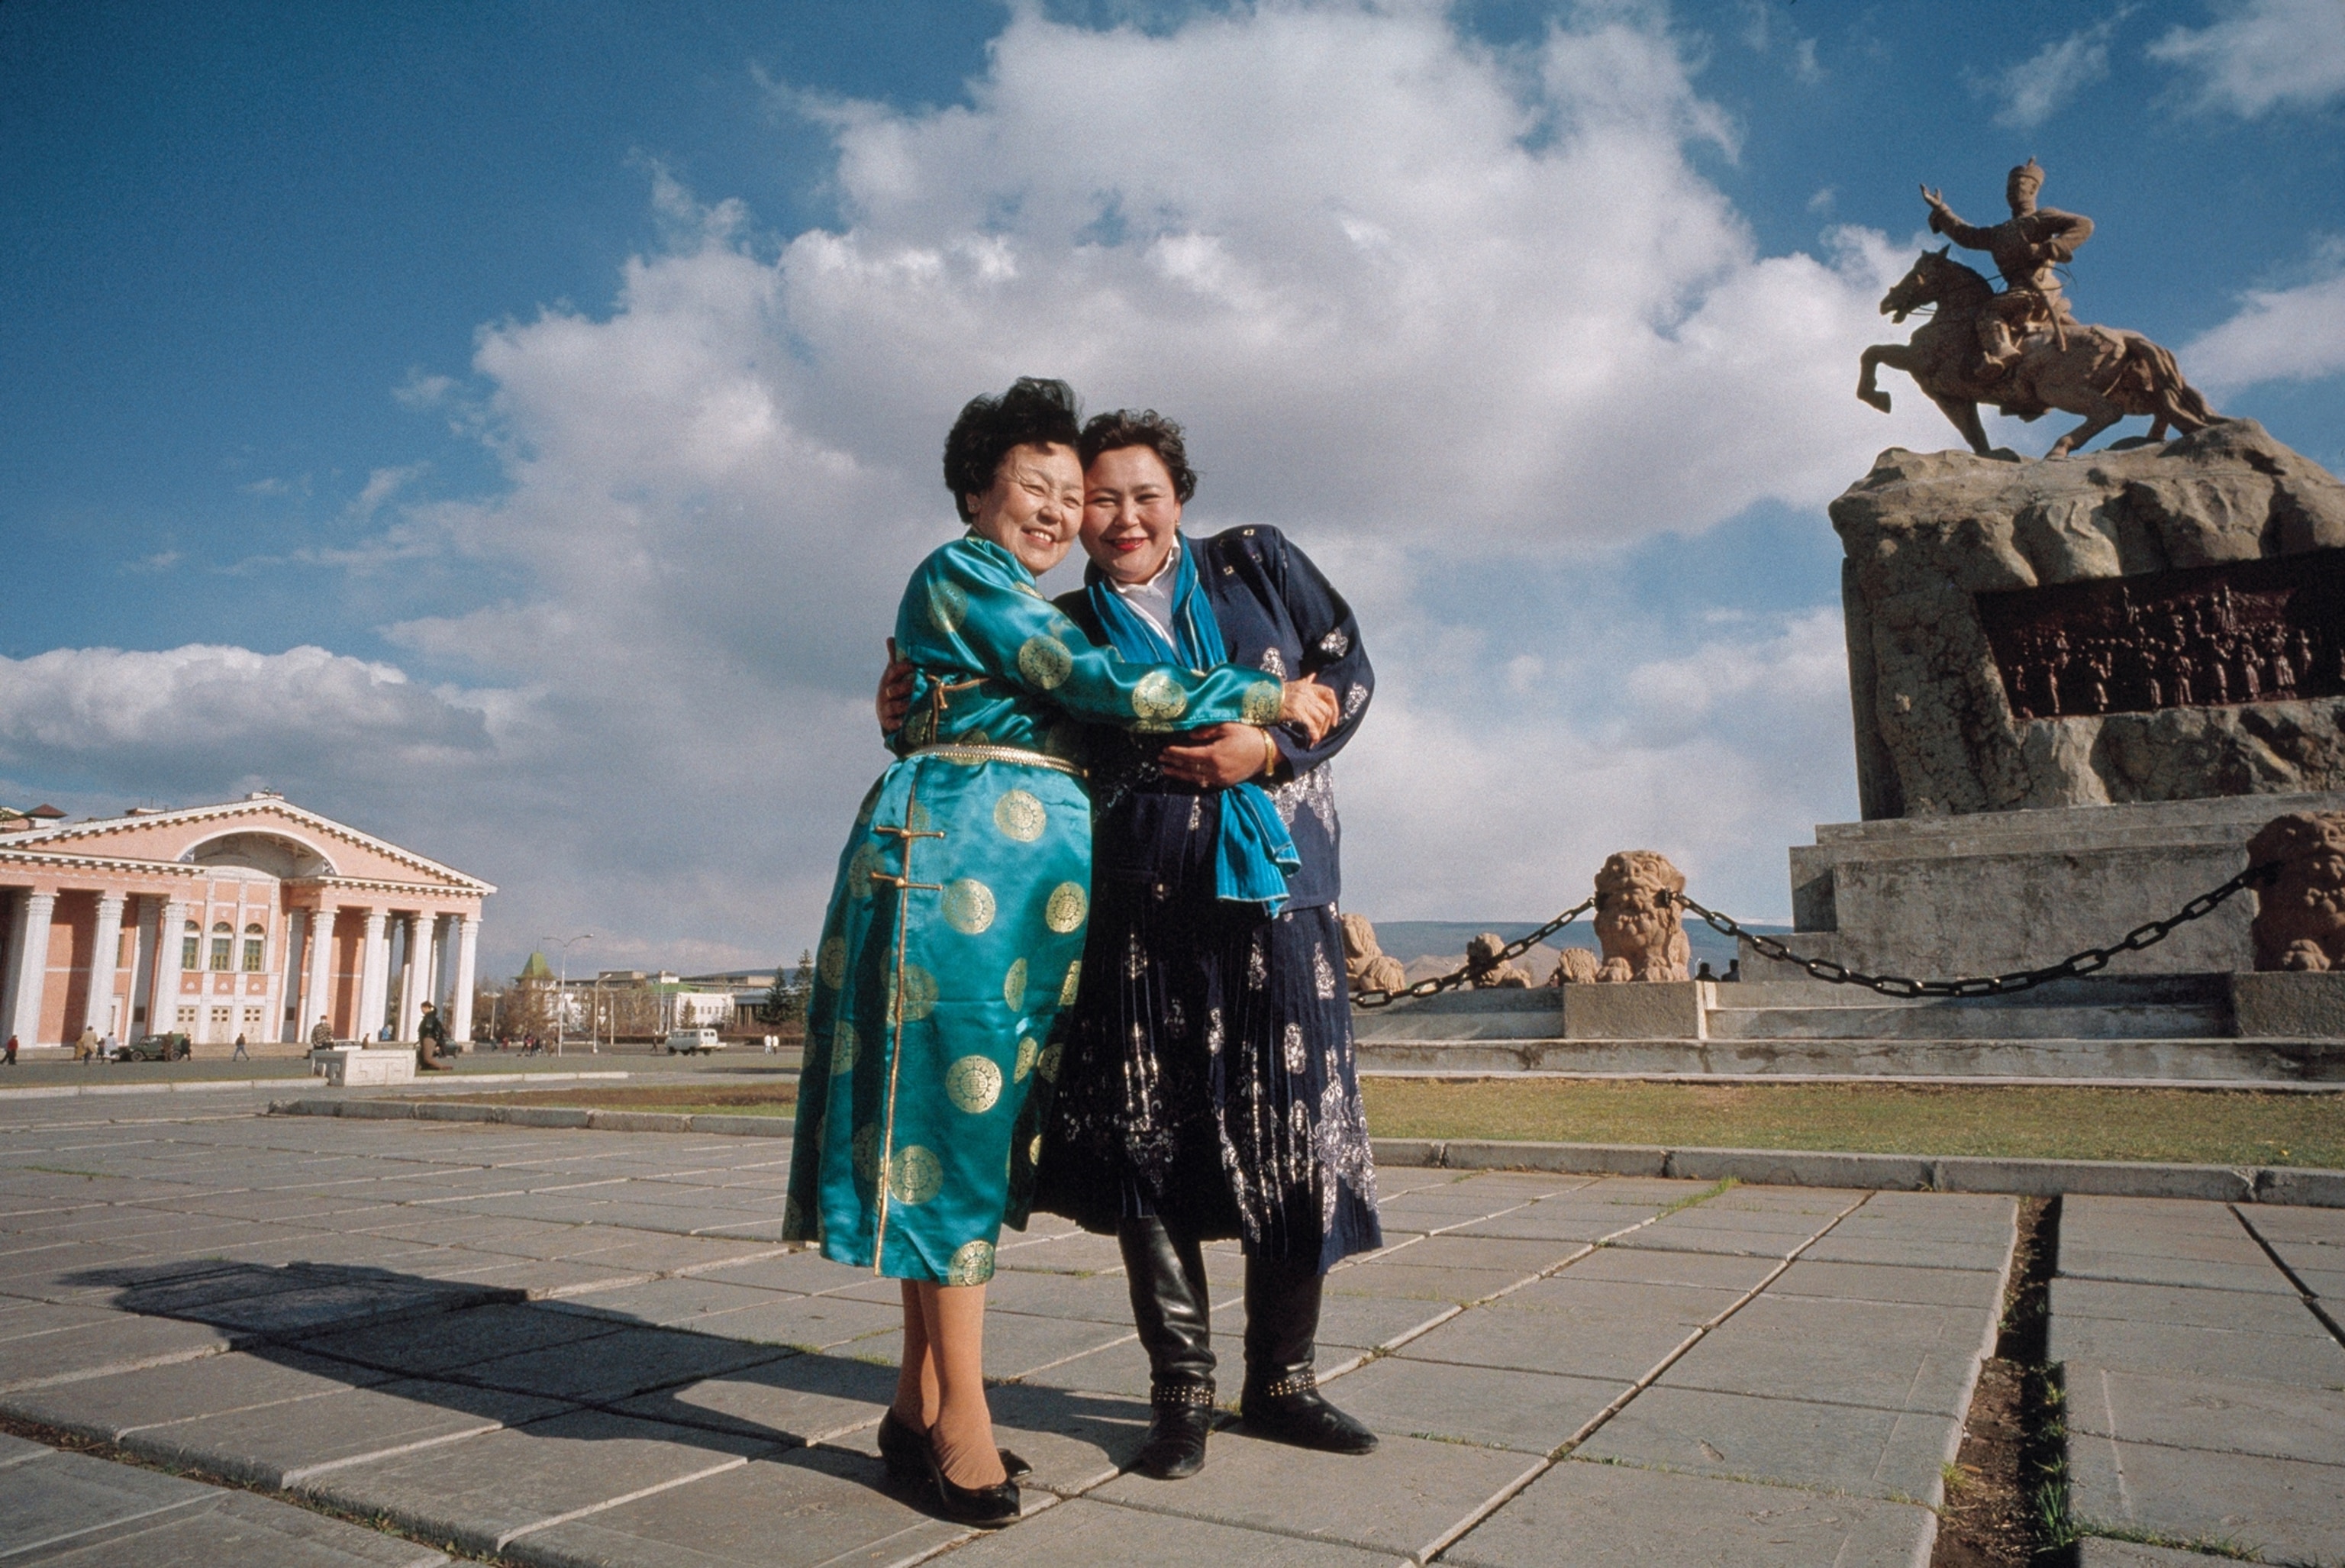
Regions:
M 2345 1167 L 2345 1095 L 1365 1078 L 1377 1137 Z

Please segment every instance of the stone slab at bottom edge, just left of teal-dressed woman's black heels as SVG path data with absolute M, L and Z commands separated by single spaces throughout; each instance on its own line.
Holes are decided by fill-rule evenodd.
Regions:
M 966 1535 L 886 1493 L 877 1460 L 802 1448 L 532 1530 L 507 1556 L 544 1568 L 893 1568 Z

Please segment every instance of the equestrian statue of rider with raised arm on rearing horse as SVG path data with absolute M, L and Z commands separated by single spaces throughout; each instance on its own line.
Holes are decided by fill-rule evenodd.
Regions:
M 2169 352 L 2141 333 L 2085 326 L 2071 314 L 2057 267 L 2092 239 L 2092 218 L 2038 206 L 2042 183 L 2033 157 L 2012 169 L 2005 185 L 2012 216 L 1991 227 L 1963 223 L 1923 185 L 1930 230 L 1951 244 L 1923 251 L 1881 298 L 1881 314 L 1904 321 L 1923 305 L 1937 312 L 1909 342 L 1864 349 L 1857 396 L 1888 413 L 1890 394 L 1874 377 L 1881 366 L 1904 370 L 1982 455 L 1991 448 L 1979 403 L 2019 420 L 2040 420 L 2054 408 L 2085 415 L 2047 457 L 2066 457 L 2127 415 L 2150 417 L 2150 441 L 2164 441 L 2167 427 L 2188 434 L 2218 420 Z M 1986 251 L 2003 274 L 2003 293 L 1953 260 L 1953 246 Z

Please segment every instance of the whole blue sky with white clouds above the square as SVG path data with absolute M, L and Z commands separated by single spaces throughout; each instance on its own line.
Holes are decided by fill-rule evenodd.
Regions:
M 1916 183 L 2028 155 L 2085 319 L 2345 466 L 2338 0 L 7 0 L 0 799 L 267 783 L 507 886 L 495 959 L 795 952 L 945 422 L 1044 370 L 1369 616 L 1353 907 L 1653 844 L 1780 916 L 1855 813 L 1822 504 L 1951 443 L 1855 349 Z

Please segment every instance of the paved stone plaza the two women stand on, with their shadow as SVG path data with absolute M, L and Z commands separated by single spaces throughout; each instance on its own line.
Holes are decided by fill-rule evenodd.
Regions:
M 2017 1233 L 2000 1195 L 1386 1167 L 1320 1350 L 1384 1446 L 1231 1425 L 1165 1484 L 1121 1474 L 1114 1242 L 1041 1221 L 987 1317 L 1027 1516 L 971 1535 L 886 1488 L 896 1284 L 781 1247 L 786 1167 L 0 1097 L 0 1413 L 52 1439 L 0 1437 L 0 1563 L 1928 1563 Z M 2064 1202 L 2073 1507 L 2136 1538 L 2087 1566 L 2345 1561 L 2340 1305 L 2345 1212 Z

